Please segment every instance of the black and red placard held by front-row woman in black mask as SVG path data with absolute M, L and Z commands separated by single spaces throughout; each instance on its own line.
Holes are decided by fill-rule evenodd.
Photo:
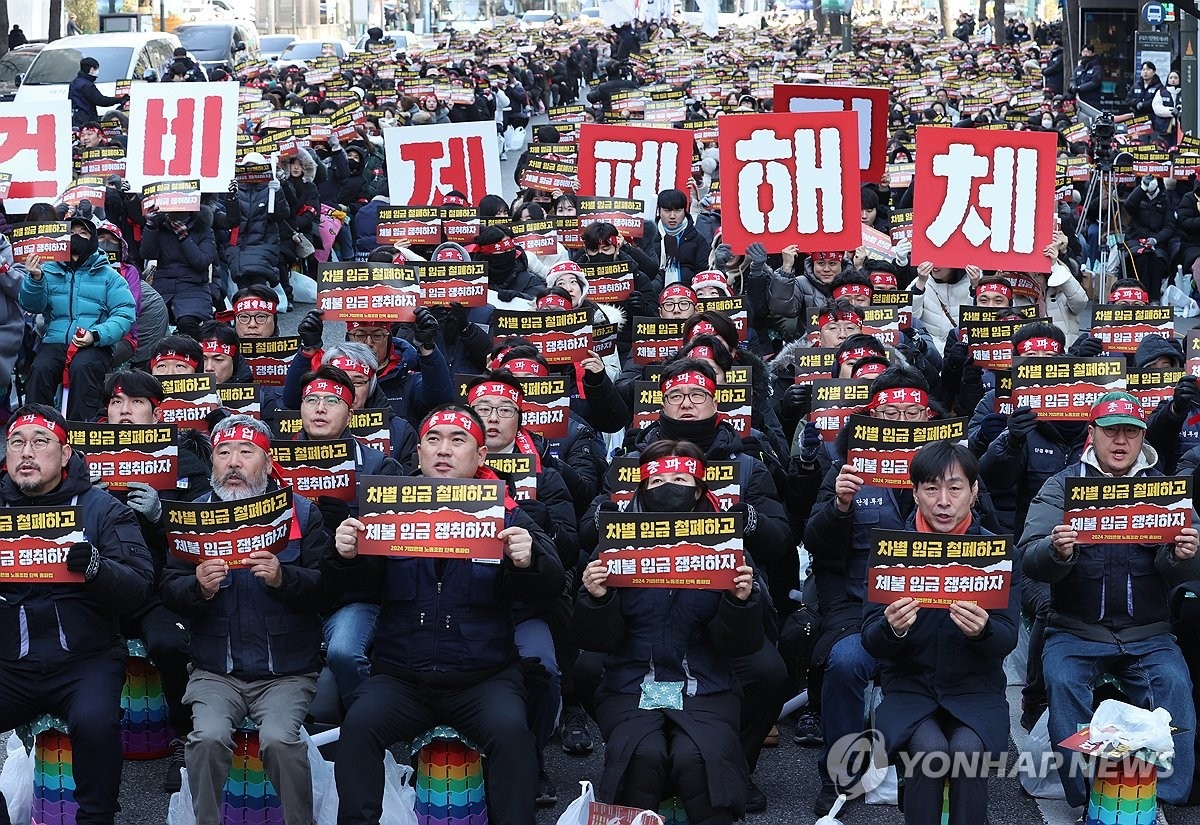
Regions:
M 732 590 L 742 513 L 599 513 L 599 558 L 612 588 Z

